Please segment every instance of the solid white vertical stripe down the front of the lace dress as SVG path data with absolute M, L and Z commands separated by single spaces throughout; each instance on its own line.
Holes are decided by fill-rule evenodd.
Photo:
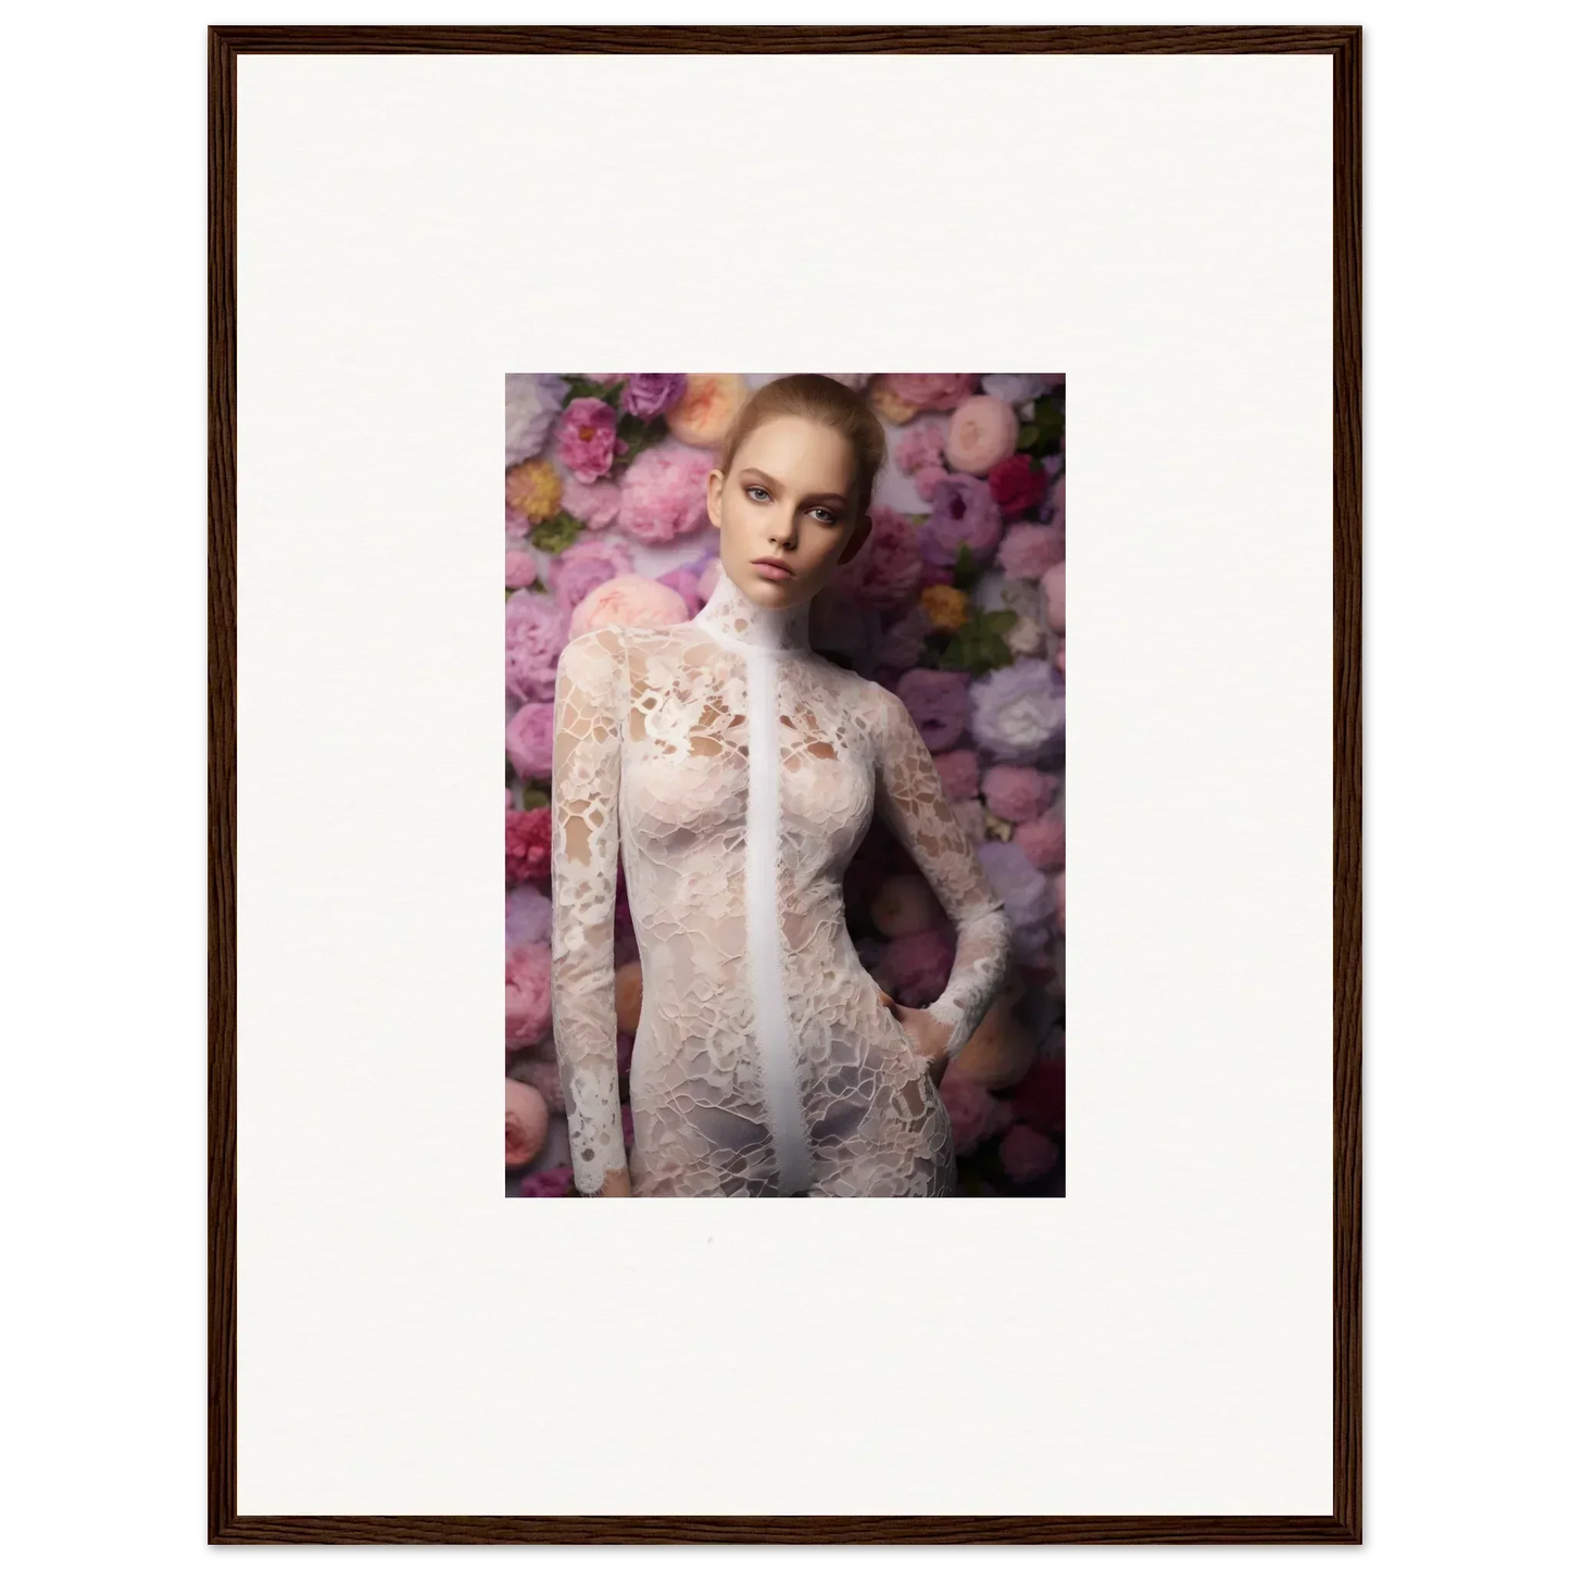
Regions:
M 763 1063 L 763 1093 L 780 1163 L 780 1193 L 799 1193 L 812 1173 L 807 1121 L 785 1010 L 780 953 L 779 661 L 747 650 L 747 959 L 752 1013 Z

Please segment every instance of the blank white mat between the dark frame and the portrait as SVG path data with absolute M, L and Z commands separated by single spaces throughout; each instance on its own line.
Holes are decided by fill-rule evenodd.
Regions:
M 1331 74 L 242 57 L 242 1513 L 1331 1509 Z M 1064 1199 L 502 1198 L 507 371 L 1061 371 Z

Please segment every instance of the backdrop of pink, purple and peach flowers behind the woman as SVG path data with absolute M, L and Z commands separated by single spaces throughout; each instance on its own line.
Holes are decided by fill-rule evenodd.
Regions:
M 1014 923 L 1010 977 L 948 1066 L 964 1195 L 1061 1195 L 1064 378 L 856 374 L 889 435 L 873 532 L 813 601 L 813 647 L 892 689 Z M 719 573 L 705 476 L 771 375 L 507 377 L 507 1193 L 573 1195 L 551 1042 L 556 661 L 608 623 L 696 615 Z M 862 962 L 931 1003 L 955 934 L 874 821 L 845 884 Z M 615 1013 L 622 1118 L 642 973 L 625 884 Z

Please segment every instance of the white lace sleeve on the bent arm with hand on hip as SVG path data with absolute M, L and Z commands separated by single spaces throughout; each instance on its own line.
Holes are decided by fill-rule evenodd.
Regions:
M 953 1027 L 947 1049 L 953 1058 L 1003 986 L 1013 931 L 970 837 L 948 805 L 911 711 L 892 692 L 879 691 L 884 721 L 878 807 L 933 885 L 958 937 L 948 986 L 928 1008 L 934 1019 Z

